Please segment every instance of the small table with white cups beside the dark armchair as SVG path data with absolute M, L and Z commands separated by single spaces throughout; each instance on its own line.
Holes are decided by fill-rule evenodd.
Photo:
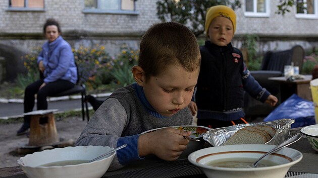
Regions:
M 312 101 L 310 84 L 312 76 L 304 75 L 304 79 L 287 80 L 285 76 L 269 77 L 269 80 L 277 81 L 280 85 L 281 102 L 287 100 L 293 94 L 299 97 Z

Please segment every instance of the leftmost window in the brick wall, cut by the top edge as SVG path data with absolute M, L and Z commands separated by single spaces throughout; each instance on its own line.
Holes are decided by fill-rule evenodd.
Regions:
M 43 10 L 44 0 L 10 0 L 9 9 Z

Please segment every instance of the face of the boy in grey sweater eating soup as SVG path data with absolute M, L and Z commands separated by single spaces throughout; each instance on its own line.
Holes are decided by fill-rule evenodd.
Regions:
M 191 102 L 199 69 L 187 72 L 181 66 L 169 65 L 161 74 L 142 83 L 150 105 L 163 116 L 172 116 Z

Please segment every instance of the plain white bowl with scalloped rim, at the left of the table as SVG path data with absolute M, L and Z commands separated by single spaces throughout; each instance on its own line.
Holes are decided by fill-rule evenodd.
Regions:
M 69 146 L 34 152 L 18 159 L 27 177 L 101 177 L 109 168 L 116 152 L 90 163 L 64 166 L 42 166 L 65 160 L 91 160 L 114 148 L 108 146 Z

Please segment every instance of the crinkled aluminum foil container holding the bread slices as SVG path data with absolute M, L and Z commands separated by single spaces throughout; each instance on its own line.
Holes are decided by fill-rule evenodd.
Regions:
M 280 119 L 269 122 L 258 122 L 249 124 L 237 124 L 229 127 L 211 129 L 204 133 L 203 139 L 212 146 L 222 146 L 234 133 L 246 126 L 271 126 L 276 129 L 274 137 L 265 144 L 279 145 L 289 138 L 291 125 L 295 122 L 294 119 Z

